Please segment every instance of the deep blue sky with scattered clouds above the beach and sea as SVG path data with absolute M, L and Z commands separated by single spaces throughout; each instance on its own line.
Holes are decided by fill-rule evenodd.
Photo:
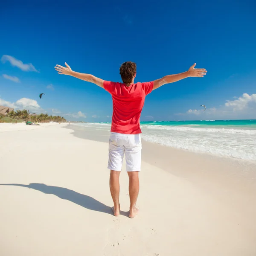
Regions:
M 136 81 L 142 82 L 184 72 L 196 62 L 207 76 L 153 91 L 142 121 L 256 119 L 253 0 L 5 2 L 0 105 L 69 120 L 111 121 L 111 96 L 58 75 L 55 64 L 66 61 L 75 71 L 121 81 L 120 64 L 134 61 Z M 39 93 L 45 93 L 42 99 Z M 201 104 L 207 106 L 204 113 Z

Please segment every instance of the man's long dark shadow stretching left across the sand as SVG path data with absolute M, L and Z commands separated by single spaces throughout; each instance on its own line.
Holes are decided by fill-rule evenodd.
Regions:
M 68 200 L 74 204 L 78 204 L 81 207 L 86 209 L 97 211 L 97 212 L 104 212 L 113 215 L 111 207 L 102 204 L 101 202 L 97 201 L 96 199 L 88 196 L 80 194 L 76 191 L 71 189 L 66 189 L 58 186 L 47 186 L 42 183 L 30 183 L 29 185 L 24 184 L 0 184 L 0 186 L 22 186 L 29 189 L 35 189 L 41 191 L 45 194 L 52 194 L 56 195 L 61 199 Z M 128 212 L 120 212 L 120 215 L 125 215 L 128 217 Z

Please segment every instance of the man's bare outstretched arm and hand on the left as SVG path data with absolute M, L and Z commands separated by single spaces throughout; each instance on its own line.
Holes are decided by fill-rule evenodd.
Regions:
M 56 65 L 57 67 L 55 67 L 55 70 L 58 71 L 58 74 L 60 75 L 68 75 L 68 76 L 73 76 L 76 77 L 78 79 L 93 83 L 93 84 L 97 84 L 99 87 L 103 88 L 103 82 L 104 80 L 90 75 L 90 74 L 83 74 L 83 73 L 78 73 L 75 72 L 73 70 L 71 70 L 70 66 L 65 62 L 66 67 L 62 67 L 61 65 Z

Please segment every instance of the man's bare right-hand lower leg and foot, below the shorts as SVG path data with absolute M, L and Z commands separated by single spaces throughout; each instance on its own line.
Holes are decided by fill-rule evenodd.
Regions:
M 130 218 L 134 218 L 139 209 L 136 208 L 136 202 L 140 190 L 139 172 L 128 172 L 129 176 L 129 195 L 130 195 Z

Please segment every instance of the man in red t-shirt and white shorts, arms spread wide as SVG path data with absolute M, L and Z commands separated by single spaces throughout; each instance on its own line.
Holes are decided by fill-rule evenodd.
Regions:
M 142 111 L 145 96 L 152 90 L 164 84 L 173 83 L 187 77 L 203 77 L 205 69 L 195 69 L 195 64 L 188 71 L 164 76 L 161 79 L 146 83 L 135 83 L 136 64 L 128 61 L 121 65 L 120 75 L 123 83 L 104 81 L 90 74 L 78 73 L 66 67 L 57 65 L 58 74 L 74 76 L 78 79 L 94 83 L 112 95 L 113 115 L 111 135 L 109 140 L 108 169 L 110 172 L 110 191 L 113 199 L 113 214 L 119 215 L 119 175 L 122 168 L 122 160 L 125 154 L 126 171 L 129 176 L 130 212 L 129 217 L 134 218 L 138 214 L 136 202 L 139 194 L 139 172 L 141 166 L 141 139 L 140 139 L 140 113 Z

